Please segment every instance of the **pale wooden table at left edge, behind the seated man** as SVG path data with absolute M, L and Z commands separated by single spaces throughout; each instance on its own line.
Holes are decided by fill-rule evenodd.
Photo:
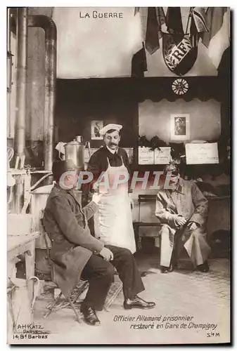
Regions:
M 40 232 L 34 232 L 27 235 L 8 235 L 8 277 L 13 276 L 13 267 L 15 267 L 15 258 L 25 254 L 26 279 L 34 276 L 35 263 L 35 240 L 41 235 Z M 30 298 L 32 300 L 34 293 L 34 282 L 31 280 L 28 284 Z

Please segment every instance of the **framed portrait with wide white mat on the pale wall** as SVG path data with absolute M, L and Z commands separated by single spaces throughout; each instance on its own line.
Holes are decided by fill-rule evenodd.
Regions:
M 189 114 L 170 115 L 171 140 L 189 140 Z

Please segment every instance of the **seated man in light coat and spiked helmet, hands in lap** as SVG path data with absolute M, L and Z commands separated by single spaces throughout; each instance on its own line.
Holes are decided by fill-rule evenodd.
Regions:
M 161 227 L 160 266 L 161 272 L 172 272 L 177 247 L 184 244 L 193 267 L 201 272 L 208 272 L 207 257 L 210 246 L 206 241 L 205 225 L 207 221 L 207 199 L 198 186 L 180 178 L 179 168 L 175 164 L 165 167 L 164 176 L 170 176 L 170 189 L 158 192 L 155 216 Z M 174 247 L 175 246 L 175 247 Z M 179 250 L 178 250 L 179 251 Z

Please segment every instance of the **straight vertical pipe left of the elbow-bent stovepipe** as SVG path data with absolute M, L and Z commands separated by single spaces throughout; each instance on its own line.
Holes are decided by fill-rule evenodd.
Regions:
M 27 83 L 27 8 L 18 8 L 17 20 L 17 74 L 15 114 L 15 155 L 23 157 L 25 149 L 25 112 Z

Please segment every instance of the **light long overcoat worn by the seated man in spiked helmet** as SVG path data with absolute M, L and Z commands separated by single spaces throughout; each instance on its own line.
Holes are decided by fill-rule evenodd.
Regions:
M 210 254 L 210 246 L 207 244 L 207 208 L 208 201 L 199 190 L 196 183 L 179 178 L 177 189 L 174 191 L 160 190 L 156 199 L 155 215 L 161 223 L 160 234 L 167 232 L 169 244 L 161 255 L 162 262 L 169 266 L 174 245 L 174 234 L 179 233 L 193 265 L 200 265 Z M 177 217 L 183 216 L 187 223 L 195 222 L 196 230 L 189 230 L 187 225 L 179 227 Z M 181 241 L 179 244 L 181 244 Z M 181 247 L 181 245 L 179 245 Z M 163 250 L 164 251 L 164 250 Z

